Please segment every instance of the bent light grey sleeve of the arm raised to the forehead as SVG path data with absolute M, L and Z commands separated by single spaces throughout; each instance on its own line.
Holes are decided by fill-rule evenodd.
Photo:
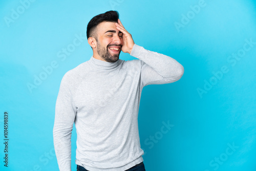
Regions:
M 175 82 L 184 73 L 183 66 L 174 58 L 146 50 L 136 44 L 130 55 L 142 60 L 141 83 L 143 87 L 149 84 Z

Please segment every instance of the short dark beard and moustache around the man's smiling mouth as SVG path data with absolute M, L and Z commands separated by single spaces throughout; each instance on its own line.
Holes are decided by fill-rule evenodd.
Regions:
M 109 52 L 110 46 L 119 46 L 120 52 L 118 54 L 111 55 Z M 108 45 L 108 47 L 104 48 L 100 45 L 100 43 L 97 41 L 97 52 L 99 56 L 104 59 L 107 62 L 116 62 L 119 59 L 119 54 L 121 53 L 121 47 L 120 45 Z

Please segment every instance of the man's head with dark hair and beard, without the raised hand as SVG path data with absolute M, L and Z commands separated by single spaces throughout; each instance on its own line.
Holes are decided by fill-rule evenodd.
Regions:
M 107 11 L 93 17 L 87 26 L 87 39 L 96 59 L 115 62 L 123 44 L 122 32 L 117 30 L 117 11 Z M 116 49 L 116 50 L 115 50 Z

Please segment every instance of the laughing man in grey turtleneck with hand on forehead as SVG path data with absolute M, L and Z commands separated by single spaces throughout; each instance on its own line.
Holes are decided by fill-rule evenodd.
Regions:
M 142 88 L 179 80 L 175 59 L 134 43 L 117 11 L 87 27 L 93 56 L 62 78 L 56 101 L 54 147 L 60 171 L 71 170 L 71 132 L 77 131 L 77 170 L 145 170 L 138 131 Z M 120 52 L 138 58 L 124 61 Z

